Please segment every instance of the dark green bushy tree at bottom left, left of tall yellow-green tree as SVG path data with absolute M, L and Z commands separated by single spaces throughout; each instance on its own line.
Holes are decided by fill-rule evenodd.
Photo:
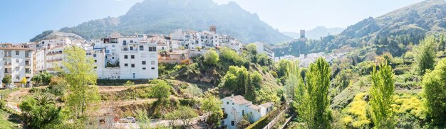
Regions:
M 25 99 L 19 108 L 26 128 L 51 128 L 63 119 L 61 107 L 57 107 L 48 95 Z

